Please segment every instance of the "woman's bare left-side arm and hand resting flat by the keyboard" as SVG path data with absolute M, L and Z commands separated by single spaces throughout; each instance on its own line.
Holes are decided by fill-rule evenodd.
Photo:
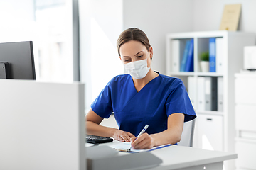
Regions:
M 130 132 L 124 132 L 115 128 L 109 128 L 100 125 L 103 118 L 97 115 L 92 109 L 85 116 L 86 132 L 90 135 L 98 135 L 104 137 L 113 137 L 114 140 L 129 142 L 134 137 Z

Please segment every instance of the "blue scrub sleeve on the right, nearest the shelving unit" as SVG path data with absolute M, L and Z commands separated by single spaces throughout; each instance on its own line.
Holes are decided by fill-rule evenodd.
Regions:
M 167 116 L 172 113 L 183 113 L 185 115 L 184 122 L 196 118 L 196 113 L 181 79 L 176 79 L 171 84 L 170 94 L 166 101 L 166 113 Z

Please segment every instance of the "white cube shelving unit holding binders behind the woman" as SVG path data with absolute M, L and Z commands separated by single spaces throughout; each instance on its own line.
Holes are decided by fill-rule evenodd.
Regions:
M 193 72 L 179 72 L 177 61 L 181 63 L 186 40 L 193 38 Z M 222 64 L 216 72 L 201 72 L 199 65 L 201 52 L 209 50 L 209 38 L 222 38 L 223 45 L 221 57 Z M 174 40 L 179 40 L 179 49 L 174 49 Z M 235 79 L 234 74 L 242 69 L 243 47 L 255 44 L 255 34 L 230 31 L 206 31 L 191 33 L 171 33 L 166 36 L 166 74 L 180 78 L 186 86 L 191 97 L 198 118 L 194 135 L 193 147 L 213 149 L 225 152 L 235 152 Z M 176 46 L 175 46 L 176 47 Z M 178 54 L 178 55 L 176 55 Z M 176 56 L 174 56 L 176 55 Z M 177 59 L 177 56 L 179 57 Z M 219 56 L 218 56 L 219 57 Z M 217 57 L 216 57 L 217 60 Z M 216 64 L 218 64 L 216 62 Z M 188 77 L 193 78 L 193 83 L 188 83 Z M 200 109 L 198 93 L 198 79 L 211 77 L 217 81 L 223 80 L 223 85 L 216 85 L 217 91 L 223 91 L 223 110 L 206 111 Z M 191 85 L 192 84 L 192 85 Z M 193 96 L 193 97 L 192 97 Z M 235 162 L 225 162 L 225 169 L 235 169 Z

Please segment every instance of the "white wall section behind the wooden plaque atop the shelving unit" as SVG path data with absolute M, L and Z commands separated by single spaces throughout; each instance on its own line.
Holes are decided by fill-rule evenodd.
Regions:
M 193 0 L 193 30 L 218 30 L 226 4 L 242 4 L 238 30 L 256 33 L 255 0 Z

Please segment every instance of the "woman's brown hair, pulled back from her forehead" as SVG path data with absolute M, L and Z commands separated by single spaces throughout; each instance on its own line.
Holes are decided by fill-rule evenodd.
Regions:
M 149 39 L 142 30 L 140 30 L 139 28 L 128 28 L 119 35 L 119 38 L 117 40 L 117 52 L 119 56 L 121 45 L 123 45 L 126 42 L 129 42 L 130 40 L 142 42 L 142 44 L 146 46 L 146 50 L 148 51 L 149 47 L 151 47 Z

